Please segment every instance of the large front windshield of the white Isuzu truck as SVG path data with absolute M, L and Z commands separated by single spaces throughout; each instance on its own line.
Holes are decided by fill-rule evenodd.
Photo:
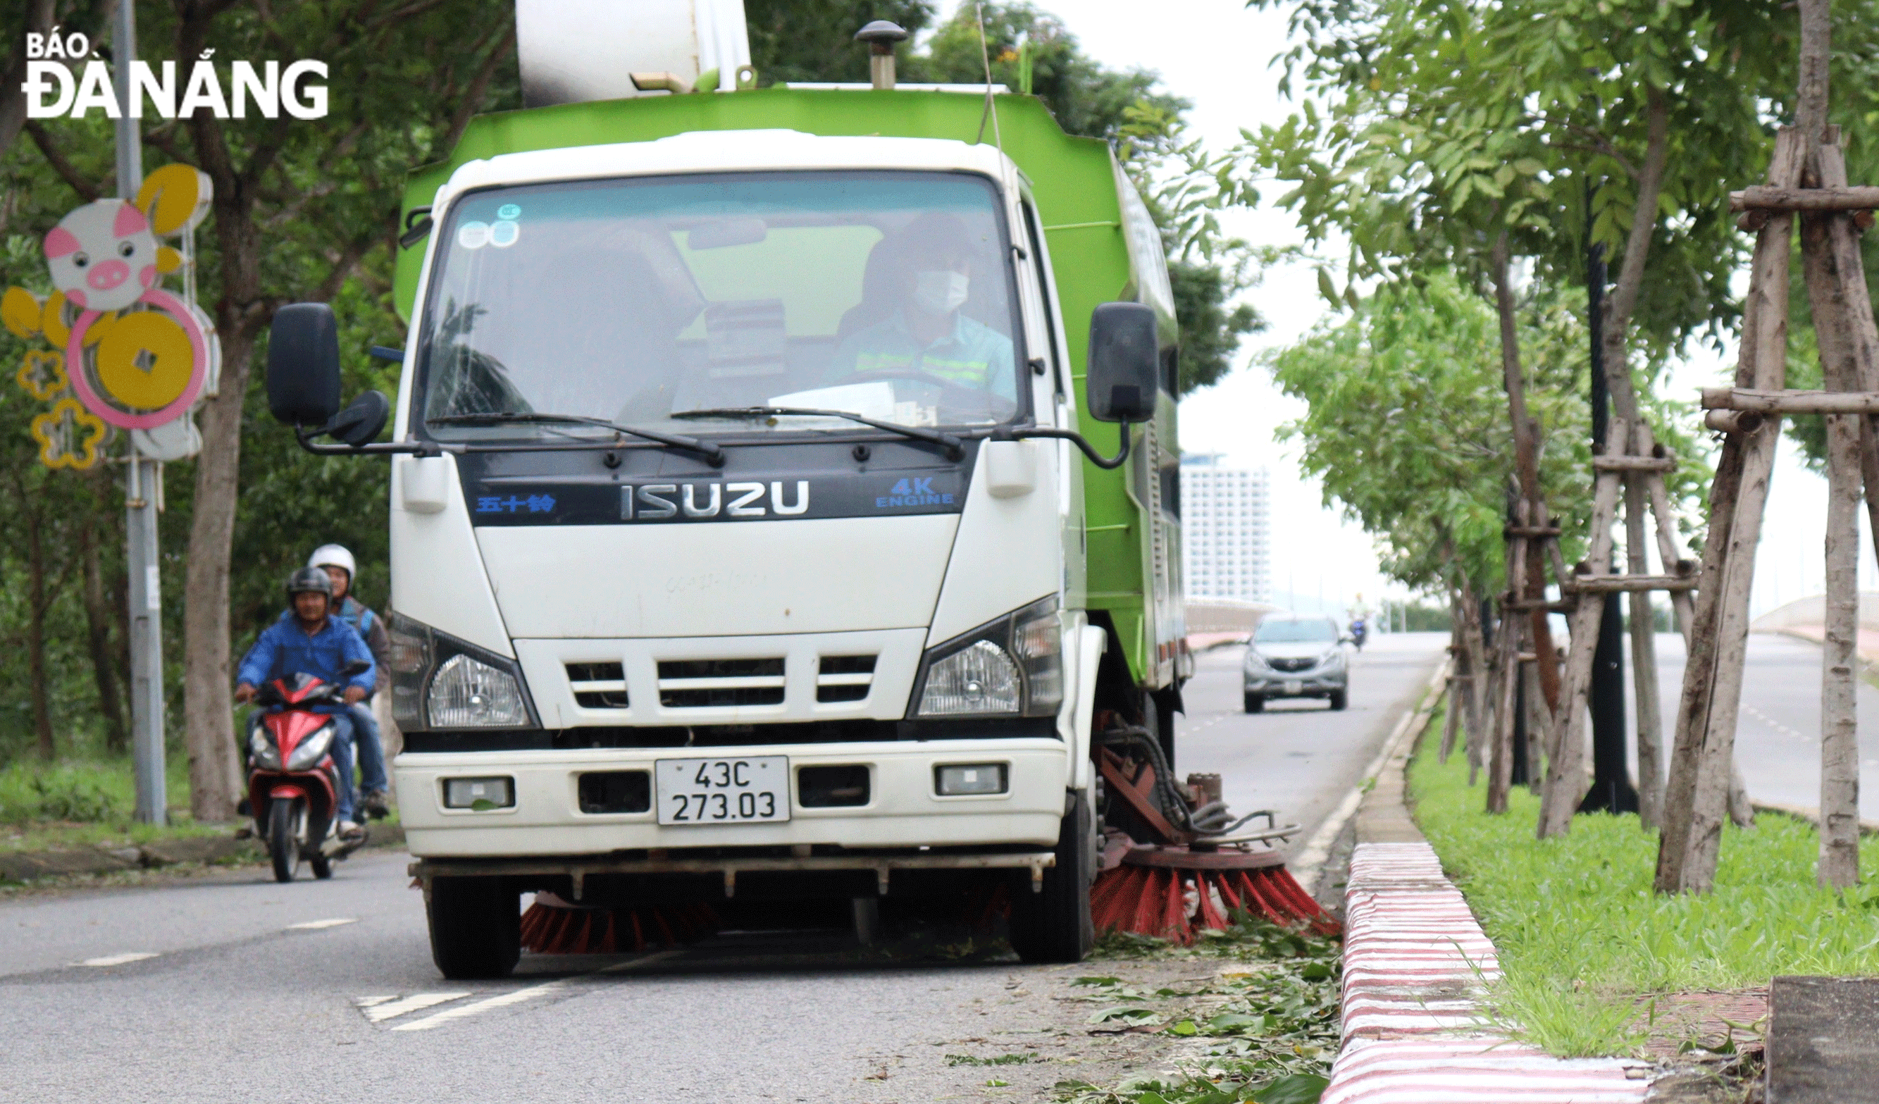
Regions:
M 789 432 L 1020 411 L 998 193 L 964 173 L 494 188 L 436 233 L 417 409 L 442 439 Z M 688 411 L 727 411 L 682 417 Z M 673 417 L 680 415 L 680 417 Z

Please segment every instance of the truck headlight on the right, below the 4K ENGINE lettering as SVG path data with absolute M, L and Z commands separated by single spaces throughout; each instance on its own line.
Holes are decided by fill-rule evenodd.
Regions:
M 926 652 L 915 717 L 1054 717 L 1064 631 L 1048 597 Z

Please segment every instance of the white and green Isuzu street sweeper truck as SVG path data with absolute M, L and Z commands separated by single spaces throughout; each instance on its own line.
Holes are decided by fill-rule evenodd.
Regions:
M 983 88 L 671 94 L 481 116 L 406 207 L 396 400 L 338 409 L 319 304 L 269 389 L 393 454 L 438 967 L 509 971 L 528 890 L 979 894 L 1082 958 L 1095 757 L 1167 777 L 1189 665 L 1172 302 L 1109 146 Z

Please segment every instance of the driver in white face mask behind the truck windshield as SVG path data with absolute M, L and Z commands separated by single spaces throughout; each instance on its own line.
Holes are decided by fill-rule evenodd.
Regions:
M 966 223 L 955 214 L 923 214 L 902 231 L 894 248 L 894 312 L 836 347 L 825 385 L 853 383 L 855 376 L 876 372 L 932 376 L 1017 402 L 1011 338 L 960 310 L 973 278 Z

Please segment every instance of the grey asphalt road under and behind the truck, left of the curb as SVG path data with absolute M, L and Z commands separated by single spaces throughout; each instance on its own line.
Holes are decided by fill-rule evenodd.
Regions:
M 1342 713 L 1308 702 L 1246 715 L 1238 650 L 1208 653 L 1178 766 L 1218 770 L 1233 805 L 1276 807 L 1310 832 L 1360 781 L 1441 644 L 1375 638 Z M 913 1104 L 1011 1098 L 1026 1083 L 1035 1096 L 1060 1076 L 1154 1061 L 1084 1053 L 1150 1042 L 1088 1038 L 1088 1008 L 1062 1003 L 1088 967 L 894 961 L 844 931 L 524 956 L 515 978 L 447 984 L 406 862 L 368 851 L 329 882 L 244 867 L 0 901 L 0 1100 Z M 1090 1065 L 1009 1066 L 1002 1093 L 985 1068 L 945 1061 L 1039 1046 Z

